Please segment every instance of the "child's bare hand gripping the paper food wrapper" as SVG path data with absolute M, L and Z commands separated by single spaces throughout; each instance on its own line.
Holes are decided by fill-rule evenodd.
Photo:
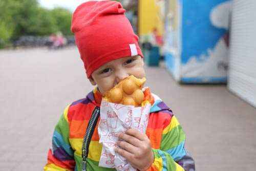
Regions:
M 139 170 L 148 169 L 154 162 L 154 154 L 151 148 L 151 142 L 145 134 L 138 130 L 129 129 L 121 133 L 118 138 L 116 152 L 131 163 L 134 168 Z

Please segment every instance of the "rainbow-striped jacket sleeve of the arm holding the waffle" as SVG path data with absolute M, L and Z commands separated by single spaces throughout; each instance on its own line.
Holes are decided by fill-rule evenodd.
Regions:
M 160 149 L 153 149 L 154 162 L 148 170 L 194 171 L 195 162 L 186 152 L 185 133 L 173 115 L 162 132 Z

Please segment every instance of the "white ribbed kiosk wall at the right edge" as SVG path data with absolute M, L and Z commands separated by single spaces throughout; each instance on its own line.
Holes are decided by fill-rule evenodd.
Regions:
M 256 1 L 233 1 L 228 89 L 256 107 Z

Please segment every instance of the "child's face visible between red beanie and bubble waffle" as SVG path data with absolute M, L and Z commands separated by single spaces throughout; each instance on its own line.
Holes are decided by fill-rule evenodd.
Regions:
M 98 86 L 102 95 L 111 90 L 119 81 L 134 75 L 137 78 L 145 77 L 144 62 L 140 56 L 123 57 L 112 60 L 92 73 L 90 79 L 93 85 Z

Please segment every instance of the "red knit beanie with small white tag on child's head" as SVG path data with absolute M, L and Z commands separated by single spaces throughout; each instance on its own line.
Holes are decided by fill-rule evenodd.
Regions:
M 77 7 L 71 30 L 87 77 L 105 63 L 143 54 L 125 9 L 114 1 L 89 1 Z

